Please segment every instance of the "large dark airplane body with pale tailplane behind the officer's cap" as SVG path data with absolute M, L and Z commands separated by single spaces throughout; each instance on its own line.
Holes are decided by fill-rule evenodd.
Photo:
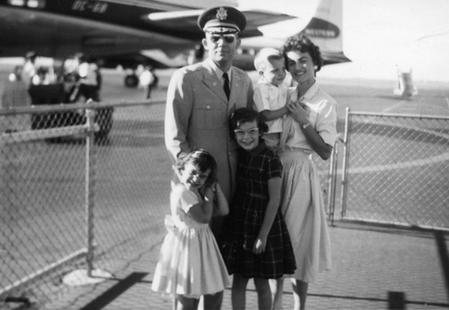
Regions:
M 49 57 L 154 48 L 182 51 L 203 37 L 196 25 L 203 10 L 190 5 L 137 0 L 0 0 L 0 56 L 22 56 L 29 50 Z M 257 10 L 245 11 L 245 15 L 248 22 L 243 36 L 260 35 L 257 27 L 293 18 Z

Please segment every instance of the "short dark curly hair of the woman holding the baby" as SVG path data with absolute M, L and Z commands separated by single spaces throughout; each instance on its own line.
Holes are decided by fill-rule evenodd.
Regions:
M 313 44 L 313 42 L 305 35 L 297 34 L 289 37 L 282 49 L 284 54 L 285 67 L 287 68 L 287 52 L 300 51 L 302 53 L 308 53 L 312 58 L 312 62 L 315 65 L 315 72 L 320 71 L 323 65 L 323 58 L 321 57 L 320 48 Z

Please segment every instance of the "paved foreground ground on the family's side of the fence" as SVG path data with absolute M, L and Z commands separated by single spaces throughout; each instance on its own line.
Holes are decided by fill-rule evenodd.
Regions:
M 337 223 L 330 234 L 333 268 L 309 285 L 307 310 L 449 309 L 447 234 L 360 223 Z M 124 255 L 125 268 L 113 278 L 69 289 L 45 309 L 171 309 L 170 296 L 151 291 L 161 240 L 148 236 L 136 242 L 140 254 Z M 283 307 L 292 309 L 288 281 L 284 290 Z M 257 309 L 251 281 L 246 296 L 246 309 Z M 222 309 L 232 309 L 230 288 Z

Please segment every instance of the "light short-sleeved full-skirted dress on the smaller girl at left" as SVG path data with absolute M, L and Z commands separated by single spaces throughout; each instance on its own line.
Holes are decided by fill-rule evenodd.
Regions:
M 209 224 L 199 223 L 187 213 L 198 202 L 199 197 L 184 185 L 173 185 L 171 215 L 165 219 L 168 233 L 154 272 L 154 291 L 199 298 L 223 291 L 229 284 L 228 271 Z

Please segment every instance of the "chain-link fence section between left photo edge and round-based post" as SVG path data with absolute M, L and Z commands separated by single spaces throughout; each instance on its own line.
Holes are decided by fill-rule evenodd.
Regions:
M 66 112 L 55 112 L 54 118 L 48 114 L 48 119 L 60 113 Z M 0 116 L 2 297 L 29 295 L 30 283 L 86 255 L 85 146 L 56 139 L 82 137 L 87 127 L 31 130 L 32 119 L 42 115 Z

